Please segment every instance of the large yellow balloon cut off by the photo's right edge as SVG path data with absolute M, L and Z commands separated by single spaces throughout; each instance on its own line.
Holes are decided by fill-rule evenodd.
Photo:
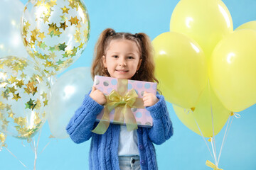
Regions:
M 228 110 L 256 103 L 256 31 L 235 31 L 221 40 L 210 59 L 210 83 Z

